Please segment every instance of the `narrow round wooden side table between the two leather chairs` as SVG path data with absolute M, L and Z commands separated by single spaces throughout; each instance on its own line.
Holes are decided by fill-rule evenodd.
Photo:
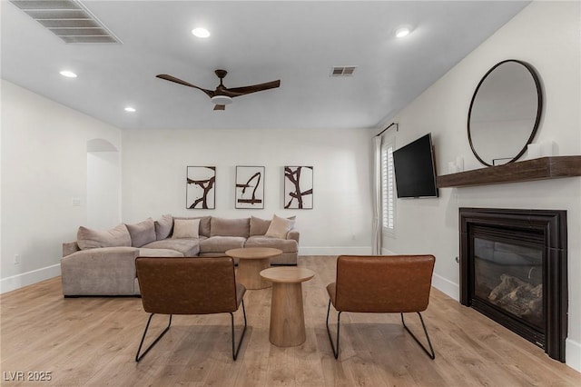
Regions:
M 293 347 L 307 340 L 302 285 L 315 272 L 298 266 L 271 267 L 261 277 L 272 283 L 271 330 L 269 340 L 279 347 Z

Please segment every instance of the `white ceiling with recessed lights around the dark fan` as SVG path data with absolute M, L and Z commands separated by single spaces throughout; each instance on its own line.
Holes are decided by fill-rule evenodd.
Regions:
M 67 45 L 2 0 L 2 78 L 119 128 L 376 128 L 527 3 L 84 1 L 123 45 Z M 194 37 L 199 25 L 212 36 Z M 400 25 L 412 33 L 397 39 Z M 334 65 L 358 67 L 330 77 Z M 155 78 L 213 90 L 217 68 L 227 87 L 281 87 L 220 112 L 201 91 Z

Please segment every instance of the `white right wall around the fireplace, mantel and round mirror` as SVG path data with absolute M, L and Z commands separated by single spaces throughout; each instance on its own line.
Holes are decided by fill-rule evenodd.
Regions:
M 581 28 L 578 2 L 534 2 L 409 104 L 399 122 L 397 146 L 432 133 L 440 174 L 458 155 L 480 168 L 467 137 L 470 98 L 480 78 L 505 59 L 537 68 L 545 112 L 535 142 L 553 140 L 559 154 L 581 154 Z M 498 139 L 502 141 L 502 139 Z M 435 285 L 458 299 L 458 207 L 563 209 L 568 221 L 569 319 L 566 362 L 581 371 L 581 178 L 440 189 L 438 199 L 398 200 L 397 233 L 385 238 L 395 253 L 431 252 Z

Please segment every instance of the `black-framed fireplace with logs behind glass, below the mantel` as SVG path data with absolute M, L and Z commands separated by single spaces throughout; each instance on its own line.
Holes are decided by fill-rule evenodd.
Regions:
M 460 208 L 460 303 L 565 362 L 566 211 Z

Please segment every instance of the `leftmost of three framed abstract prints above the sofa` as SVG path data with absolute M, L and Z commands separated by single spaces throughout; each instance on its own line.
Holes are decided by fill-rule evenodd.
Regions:
M 185 208 L 216 208 L 216 167 L 188 166 L 186 170 Z

